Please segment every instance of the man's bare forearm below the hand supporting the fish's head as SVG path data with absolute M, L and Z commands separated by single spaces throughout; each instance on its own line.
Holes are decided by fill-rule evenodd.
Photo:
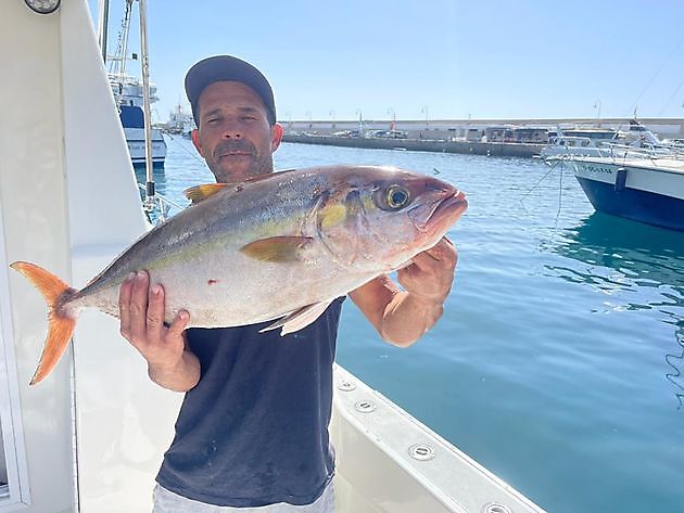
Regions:
M 396 346 L 409 346 L 434 325 L 443 311 L 441 302 L 397 291 L 384 309 L 380 335 Z

